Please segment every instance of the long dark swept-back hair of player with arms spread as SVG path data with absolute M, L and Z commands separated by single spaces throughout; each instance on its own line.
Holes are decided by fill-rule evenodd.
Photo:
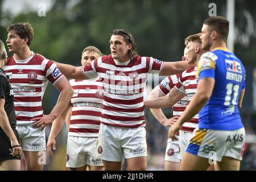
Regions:
M 133 57 L 135 57 L 138 54 L 137 45 L 135 43 L 133 35 L 131 35 L 129 31 L 125 29 L 115 29 L 111 32 L 110 36 L 112 35 L 122 35 L 123 38 L 125 39 L 126 44 L 131 44 L 132 48 L 128 52 L 130 59 L 133 59 Z

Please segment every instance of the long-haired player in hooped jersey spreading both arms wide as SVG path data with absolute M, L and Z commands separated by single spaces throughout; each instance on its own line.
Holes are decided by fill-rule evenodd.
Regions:
M 103 160 L 104 169 L 121 170 L 124 157 L 127 170 L 146 170 L 143 88 L 147 73 L 174 75 L 191 66 L 185 61 L 170 63 L 137 55 L 134 38 L 125 29 L 112 31 L 109 42 L 111 55 L 85 67 L 56 64 L 69 78 L 102 79 L 104 103 L 96 156 Z

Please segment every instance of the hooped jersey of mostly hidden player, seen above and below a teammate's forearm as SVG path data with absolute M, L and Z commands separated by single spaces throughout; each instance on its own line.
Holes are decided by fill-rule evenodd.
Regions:
M 158 89 L 160 90 L 160 92 L 164 95 L 167 95 L 169 92 L 171 92 L 171 89 L 174 88 L 174 86 L 177 84 L 179 77 L 180 74 L 171 75 L 164 78 L 164 80 L 162 80 L 158 85 Z M 187 97 L 184 96 L 183 98 L 181 98 L 180 101 L 178 101 L 174 106 L 172 106 L 173 117 L 180 116 L 186 109 L 186 107 Z

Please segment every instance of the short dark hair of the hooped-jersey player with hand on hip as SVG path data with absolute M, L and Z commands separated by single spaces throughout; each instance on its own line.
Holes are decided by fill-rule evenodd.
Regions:
M 33 36 L 34 36 L 34 30 L 31 26 L 30 23 L 26 22 L 26 23 L 14 23 L 11 24 L 8 28 L 7 28 L 7 34 L 9 34 L 10 31 L 15 31 L 15 33 L 17 35 L 19 35 L 19 37 L 21 39 L 27 38 L 28 42 L 27 42 L 27 46 L 30 46 Z

